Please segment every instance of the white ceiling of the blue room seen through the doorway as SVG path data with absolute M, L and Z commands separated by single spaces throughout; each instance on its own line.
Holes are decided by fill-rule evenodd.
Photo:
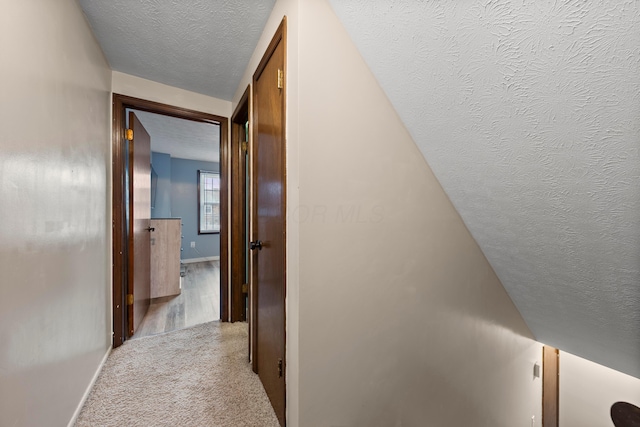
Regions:
M 151 151 L 179 159 L 220 160 L 220 126 L 134 111 L 151 136 Z

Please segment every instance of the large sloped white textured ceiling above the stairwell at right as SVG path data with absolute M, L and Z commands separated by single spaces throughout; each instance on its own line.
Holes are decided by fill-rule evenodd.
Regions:
M 538 340 L 640 377 L 640 2 L 330 2 Z

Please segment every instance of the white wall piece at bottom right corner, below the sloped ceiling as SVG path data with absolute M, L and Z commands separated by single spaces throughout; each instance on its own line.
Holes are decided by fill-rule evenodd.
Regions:
M 560 352 L 560 427 L 613 426 L 616 402 L 640 406 L 640 379 Z

